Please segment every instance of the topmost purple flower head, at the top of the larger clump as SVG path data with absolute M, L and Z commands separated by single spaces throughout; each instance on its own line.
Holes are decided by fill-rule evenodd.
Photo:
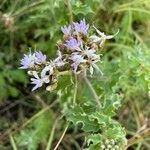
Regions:
M 86 24 L 85 19 L 83 19 L 79 23 L 74 23 L 74 28 L 76 32 L 86 35 L 89 29 L 89 24 Z

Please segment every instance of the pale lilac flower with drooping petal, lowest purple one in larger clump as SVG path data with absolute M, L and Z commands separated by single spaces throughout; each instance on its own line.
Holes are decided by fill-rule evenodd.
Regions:
M 81 63 L 86 62 L 86 60 L 83 58 L 83 56 L 77 55 L 77 54 L 72 55 L 72 56 L 70 57 L 70 60 L 73 61 L 73 63 L 71 64 L 71 67 L 73 68 L 73 71 L 74 71 L 75 73 L 77 72 L 78 66 L 79 66 Z

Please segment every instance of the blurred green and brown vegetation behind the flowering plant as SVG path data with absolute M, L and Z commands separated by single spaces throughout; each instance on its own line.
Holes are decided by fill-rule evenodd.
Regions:
M 71 5 L 75 21 L 85 18 L 107 34 L 120 29 L 100 52 L 104 76 L 90 80 L 102 99 L 121 95 L 115 119 L 126 129 L 128 149 L 150 149 L 150 0 L 71 0 Z M 61 111 L 73 93 L 71 77 L 62 77 L 51 93 L 32 93 L 18 68 L 30 48 L 55 56 L 60 27 L 69 23 L 68 9 L 68 0 L 0 0 L 0 150 L 43 150 L 48 144 L 53 149 L 60 139 Z M 90 97 L 84 87 L 77 101 Z M 84 134 L 70 125 L 59 149 L 81 149 Z

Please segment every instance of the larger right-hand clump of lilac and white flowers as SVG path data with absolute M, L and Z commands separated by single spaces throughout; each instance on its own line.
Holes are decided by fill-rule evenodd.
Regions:
M 117 34 L 107 36 L 96 27 L 94 29 L 97 34 L 90 35 L 89 24 L 86 24 L 85 19 L 61 28 L 64 37 L 58 43 L 58 47 L 74 73 L 80 73 L 82 68 L 89 69 L 91 74 L 93 74 L 94 68 L 100 71 L 96 65 L 100 61 L 98 50 L 105 40 L 111 39 Z

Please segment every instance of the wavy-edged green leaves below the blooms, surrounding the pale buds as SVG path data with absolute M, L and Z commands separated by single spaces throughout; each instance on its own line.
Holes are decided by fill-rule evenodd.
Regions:
M 114 139 L 123 149 L 127 143 L 125 130 L 112 118 L 119 105 L 118 96 L 112 95 L 104 100 L 102 108 L 98 109 L 91 103 L 73 105 L 64 110 L 64 115 L 68 121 L 80 125 L 83 131 L 92 134 L 86 139 L 90 145 L 89 149 L 100 149 L 106 139 Z

